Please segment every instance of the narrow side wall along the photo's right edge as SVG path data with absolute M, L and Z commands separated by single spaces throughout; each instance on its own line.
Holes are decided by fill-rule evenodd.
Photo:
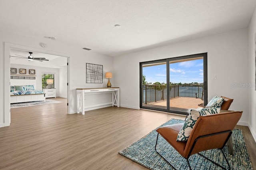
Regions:
M 256 81 L 256 10 L 252 16 L 250 25 L 248 27 L 248 68 L 249 81 L 255 83 Z M 255 84 L 254 84 L 255 85 Z M 256 89 L 249 89 L 249 128 L 256 141 Z

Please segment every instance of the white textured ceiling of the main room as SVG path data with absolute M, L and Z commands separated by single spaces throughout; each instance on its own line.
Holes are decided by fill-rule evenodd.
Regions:
M 0 29 L 117 56 L 246 28 L 255 6 L 256 0 L 0 0 Z

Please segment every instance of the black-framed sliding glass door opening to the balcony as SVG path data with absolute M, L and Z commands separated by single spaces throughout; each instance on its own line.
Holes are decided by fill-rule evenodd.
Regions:
M 207 103 L 207 53 L 140 63 L 140 108 L 186 114 Z

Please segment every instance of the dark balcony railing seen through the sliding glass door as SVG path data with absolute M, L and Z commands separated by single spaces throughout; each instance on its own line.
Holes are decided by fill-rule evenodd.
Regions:
M 170 99 L 175 97 L 203 96 L 203 85 L 170 85 Z M 167 99 L 166 85 L 143 85 L 143 103 L 164 101 Z

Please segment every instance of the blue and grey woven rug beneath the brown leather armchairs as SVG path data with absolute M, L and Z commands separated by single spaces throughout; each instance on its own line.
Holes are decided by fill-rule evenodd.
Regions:
M 178 119 L 171 119 L 170 121 L 164 123 L 165 125 L 172 125 L 176 123 L 183 123 L 184 121 Z M 151 170 L 172 170 L 172 167 L 155 151 L 156 144 L 156 130 L 152 130 L 149 134 L 134 142 L 132 145 L 128 146 L 124 150 L 119 151 L 119 154 L 149 168 Z M 246 144 L 244 142 L 244 137 L 242 130 L 234 129 L 232 133 L 234 156 L 228 154 L 228 149 L 224 147 L 224 153 L 228 158 L 232 170 L 252 170 L 252 163 L 248 154 Z M 177 169 L 187 170 L 188 164 L 185 158 L 180 156 L 180 154 L 172 148 L 161 135 L 158 137 L 158 150 L 162 153 L 168 161 L 170 161 Z M 224 167 L 228 167 L 226 161 L 220 150 L 208 150 L 201 152 L 206 157 L 218 162 Z M 190 156 L 188 159 L 192 169 L 196 170 L 219 170 L 220 167 L 216 166 L 212 162 L 206 160 L 198 154 Z

